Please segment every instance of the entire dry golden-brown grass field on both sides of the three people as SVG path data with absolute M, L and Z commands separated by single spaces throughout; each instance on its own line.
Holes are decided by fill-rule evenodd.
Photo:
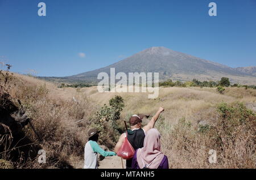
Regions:
M 239 104 L 255 110 L 255 89 L 226 88 L 220 95 L 216 88 L 160 87 L 159 97 L 148 99 L 147 93 L 99 93 L 97 87 L 57 88 L 57 84 L 30 76 L 12 76 L 9 93 L 22 101 L 48 155 L 45 165 L 39 165 L 34 158 L 17 162 L 16 168 L 63 168 L 63 164 L 78 168 L 90 117 L 115 95 L 122 96 L 125 102 L 121 120 L 128 120 L 131 114 L 153 115 L 164 107 L 155 127 L 162 134 L 162 150 L 170 168 L 255 168 L 256 118 Z M 231 113 L 223 115 L 221 108 Z M 76 123 L 80 119 L 84 121 Z M 29 127 L 25 131 L 38 141 Z M 209 163 L 210 149 L 217 151 L 217 163 Z

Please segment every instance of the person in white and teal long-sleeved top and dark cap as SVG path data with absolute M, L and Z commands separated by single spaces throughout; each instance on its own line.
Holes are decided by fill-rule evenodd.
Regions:
M 97 153 L 100 153 L 102 156 L 115 156 L 115 152 L 104 151 L 100 145 L 98 145 L 98 134 L 100 131 L 97 131 L 95 128 L 92 128 L 88 132 L 89 140 L 85 144 L 84 148 L 84 169 L 97 169 Z

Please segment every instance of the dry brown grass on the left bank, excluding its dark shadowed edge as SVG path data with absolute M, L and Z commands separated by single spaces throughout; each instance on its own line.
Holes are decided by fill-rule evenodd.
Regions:
M 39 138 L 30 126 L 24 129 L 26 136 L 38 142 L 47 153 L 46 164 L 38 164 L 37 159 L 32 159 L 17 164 L 16 168 L 76 167 L 77 162 L 73 160 L 84 155 L 88 118 L 96 109 L 92 100 L 75 89 L 58 89 L 55 84 L 18 74 L 10 84 L 10 95 L 22 102 Z M 73 96 L 78 103 L 73 101 Z M 76 123 L 80 119 L 85 120 Z

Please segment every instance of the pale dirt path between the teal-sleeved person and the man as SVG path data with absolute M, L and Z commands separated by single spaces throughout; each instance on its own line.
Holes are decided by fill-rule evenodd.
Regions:
M 123 160 L 123 168 L 125 168 L 125 160 Z M 100 161 L 98 169 L 122 169 L 121 157 L 109 156 Z

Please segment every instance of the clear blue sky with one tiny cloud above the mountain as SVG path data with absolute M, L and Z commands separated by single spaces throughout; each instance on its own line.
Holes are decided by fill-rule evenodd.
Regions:
M 47 16 L 38 16 L 39 2 Z M 0 0 L 0 61 L 14 72 L 75 75 L 151 46 L 256 66 L 256 1 Z

